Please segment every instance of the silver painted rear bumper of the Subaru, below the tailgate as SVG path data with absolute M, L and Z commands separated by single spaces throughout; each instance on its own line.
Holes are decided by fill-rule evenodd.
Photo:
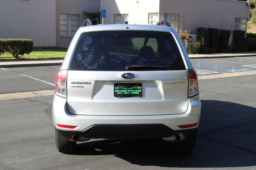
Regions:
M 159 126 L 160 129 L 159 127 L 155 126 L 155 128 L 153 128 L 152 130 L 152 127 L 154 127 L 152 125 L 163 125 L 164 127 L 169 129 L 167 130 L 167 134 L 169 135 L 179 130 L 198 128 L 200 114 L 201 114 L 201 102 L 199 100 L 199 95 L 189 98 L 187 111 L 182 114 L 140 115 L 140 116 L 136 116 L 136 115 L 132 115 L 132 116 L 75 115 L 75 114 L 69 113 L 66 106 L 66 99 L 54 95 L 52 111 L 53 111 L 53 123 L 54 123 L 55 129 L 60 134 L 69 135 L 70 132 L 73 134 L 75 132 L 75 133 L 80 133 L 81 135 L 84 136 L 84 135 L 87 135 L 86 133 L 90 132 L 87 130 L 91 129 L 95 125 L 104 125 L 105 128 L 107 127 L 107 125 L 111 125 L 111 127 L 114 127 L 114 125 L 118 125 L 118 127 L 115 126 L 117 129 L 118 128 L 120 129 L 119 125 L 124 125 L 129 127 L 134 127 L 134 125 L 136 126 L 144 125 L 144 126 L 150 127 L 150 130 L 148 130 L 148 132 L 151 133 L 151 136 L 157 137 L 158 136 L 157 133 L 163 131 L 163 129 L 160 126 Z M 178 127 L 179 125 L 188 125 L 188 124 L 194 124 L 194 123 L 198 123 L 198 125 L 195 127 L 186 128 L 186 129 L 181 129 L 180 127 Z M 78 126 L 78 127 L 70 131 L 70 129 L 59 128 L 57 124 Z M 92 129 L 95 129 L 95 128 L 92 128 Z M 102 134 L 105 133 L 103 129 L 104 128 L 98 129 L 96 132 L 100 132 L 101 134 L 98 134 L 96 136 L 98 137 L 100 136 L 104 138 L 104 136 L 102 136 Z M 133 131 L 138 131 L 138 129 L 134 129 Z M 90 132 L 90 135 L 91 134 L 92 133 Z M 118 133 L 116 132 L 116 134 Z M 162 137 L 162 135 L 160 136 Z M 95 137 L 95 138 L 98 138 L 98 137 Z M 94 138 L 94 137 L 91 137 L 91 138 Z

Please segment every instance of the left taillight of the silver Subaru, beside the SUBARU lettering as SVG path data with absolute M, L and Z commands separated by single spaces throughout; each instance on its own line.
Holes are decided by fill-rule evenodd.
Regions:
M 55 93 L 58 96 L 66 97 L 66 78 L 68 70 L 59 70 L 57 73 Z

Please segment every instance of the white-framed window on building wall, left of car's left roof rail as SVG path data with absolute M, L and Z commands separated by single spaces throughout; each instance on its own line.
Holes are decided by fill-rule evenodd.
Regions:
M 79 15 L 60 14 L 60 35 L 75 35 L 79 28 Z

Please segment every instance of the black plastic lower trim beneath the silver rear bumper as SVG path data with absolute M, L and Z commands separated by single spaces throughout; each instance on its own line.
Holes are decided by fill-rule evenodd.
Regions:
M 145 139 L 171 137 L 173 134 L 181 132 L 184 136 L 193 134 L 196 129 L 172 130 L 162 124 L 118 124 L 118 125 L 92 125 L 85 131 L 70 131 L 56 129 L 57 133 L 64 137 L 80 135 L 85 138 L 103 139 Z

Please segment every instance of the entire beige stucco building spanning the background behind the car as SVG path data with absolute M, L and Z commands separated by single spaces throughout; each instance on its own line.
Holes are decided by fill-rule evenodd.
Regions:
M 69 46 L 86 18 L 104 24 L 156 24 L 178 30 L 198 27 L 246 30 L 250 6 L 238 0 L 0 0 L 0 38 L 31 38 L 34 46 Z

